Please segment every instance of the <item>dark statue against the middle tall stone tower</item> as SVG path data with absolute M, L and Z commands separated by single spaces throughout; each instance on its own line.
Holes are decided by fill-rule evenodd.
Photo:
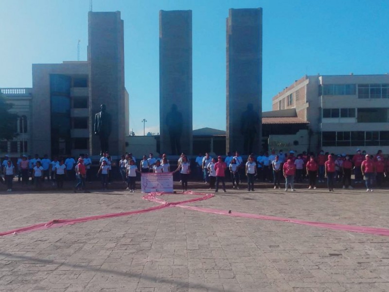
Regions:
M 176 104 L 172 105 L 166 115 L 166 126 L 169 130 L 172 154 L 179 155 L 181 153 L 182 114 L 177 110 Z

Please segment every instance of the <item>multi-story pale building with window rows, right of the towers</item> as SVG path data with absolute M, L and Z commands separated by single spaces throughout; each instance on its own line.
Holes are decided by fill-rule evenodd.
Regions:
M 310 151 L 389 153 L 389 75 L 303 76 L 273 97 L 309 122 Z

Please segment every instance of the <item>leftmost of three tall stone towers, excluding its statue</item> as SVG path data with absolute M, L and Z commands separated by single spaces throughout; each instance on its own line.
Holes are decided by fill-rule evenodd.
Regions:
M 122 155 L 124 136 L 128 133 L 125 133 L 124 28 L 119 11 L 88 13 L 88 62 L 90 153 L 100 153 L 99 137 L 94 135 L 93 126 L 100 105 L 106 104 L 112 129 L 109 153 Z

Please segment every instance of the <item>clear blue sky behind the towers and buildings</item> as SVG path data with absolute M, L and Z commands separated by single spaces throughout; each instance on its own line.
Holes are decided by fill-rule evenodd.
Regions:
M 193 126 L 226 127 L 229 8 L 263 7 L 263 110 L 304 74 L 389 72 L 388 0 L 93 0 L 121 11 L 130 128 L 159 132 L 159 10 L 193 10 Z M 31 87 L 31 64 L 86 60 L 89 0 L 0 0 L 0 87 Z

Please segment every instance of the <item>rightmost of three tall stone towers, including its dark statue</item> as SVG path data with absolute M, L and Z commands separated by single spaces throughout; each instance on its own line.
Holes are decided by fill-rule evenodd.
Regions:
M 262 8 L 227 18 L 226 149 L 258 153 L 262 144 Z

